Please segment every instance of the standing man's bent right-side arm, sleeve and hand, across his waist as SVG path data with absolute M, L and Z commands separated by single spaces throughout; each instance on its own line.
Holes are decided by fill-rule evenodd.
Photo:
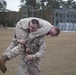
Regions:
M 45 54 L 46 45 L 43 39 L 40 40 L 39 50 L 34 54 L 28 54 L 26 56 L 27 60 L 41 58 Z

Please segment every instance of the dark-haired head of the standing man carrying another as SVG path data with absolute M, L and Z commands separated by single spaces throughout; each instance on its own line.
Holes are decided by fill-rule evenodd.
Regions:
M 29 22 L 29 30 L 30 30 L 30 32 L 36 31 L 39 27 L 40 27 L 40 25 L 39 25 L 39 21 L 38 20 L 32 19 Z

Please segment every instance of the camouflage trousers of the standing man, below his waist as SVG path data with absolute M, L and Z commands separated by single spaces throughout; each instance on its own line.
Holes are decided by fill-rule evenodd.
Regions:
M 39 63 L 20 61 L 18 75 L 40 75 Z

